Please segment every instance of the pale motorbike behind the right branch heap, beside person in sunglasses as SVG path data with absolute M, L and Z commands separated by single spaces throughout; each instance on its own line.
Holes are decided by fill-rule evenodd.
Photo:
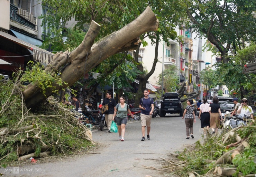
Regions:
M 231 112 L 226 112 L 224 116 L 224 121 L 223 121 L 223 127 L 224 128 L 236 128 L 239 126 L 246 126 L 246 120 L 250 119 L 250 116 L 242 116 L 242 115 L 235 115 L 235 116 L 230 116 Z

